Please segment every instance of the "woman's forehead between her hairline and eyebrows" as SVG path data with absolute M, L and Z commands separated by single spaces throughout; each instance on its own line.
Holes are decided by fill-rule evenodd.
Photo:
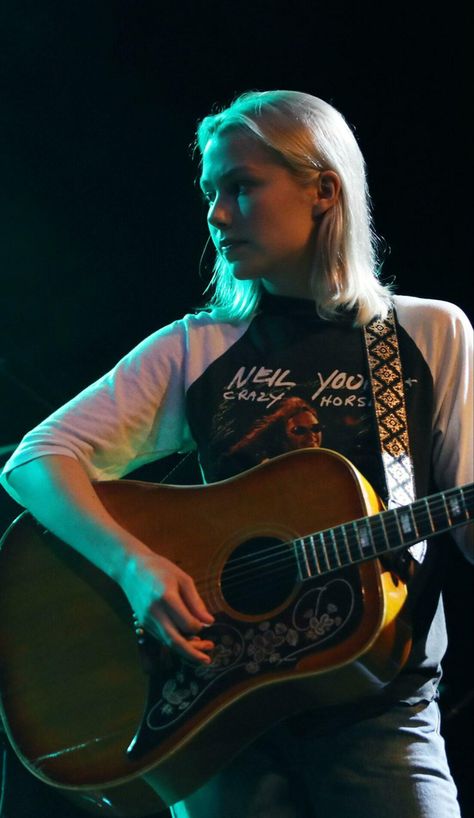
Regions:
M 213 134 L 204 148 L 201 184 L 235 170 L 263 171 L 278 165 L 270 149 L 256 137 L 240 130 L 226 130 Z

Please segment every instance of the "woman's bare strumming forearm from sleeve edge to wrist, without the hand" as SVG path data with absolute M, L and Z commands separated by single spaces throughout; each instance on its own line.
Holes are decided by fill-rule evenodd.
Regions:
M 47 529 L 119 583 L 147 547 L 119 526 L 72 457 L 39 457 L 14 469 L 9 482 Z

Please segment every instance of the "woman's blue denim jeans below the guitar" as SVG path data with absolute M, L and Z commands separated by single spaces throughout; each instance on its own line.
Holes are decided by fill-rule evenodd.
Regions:
M 314 737 L 281 723 L 173 818 L 460 818 L 436 702 Z

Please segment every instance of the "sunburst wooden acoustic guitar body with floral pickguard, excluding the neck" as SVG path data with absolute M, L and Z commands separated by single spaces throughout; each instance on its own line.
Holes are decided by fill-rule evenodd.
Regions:
M 165 809 L 278 720 L 375 693 L 406 661 L 397 576 L 372 559 L 303 581 L 290 553 L 291 541 L 381 510 L 345 458 L 308 449 L 210 486 L 95 488 L 195 578 L 216 649 L 195 667 L 154 640 L 139 646 L 112 581 L 29 514 L 12 524 L 0 552 L 5 729 L 26 767 L 85 809 Z

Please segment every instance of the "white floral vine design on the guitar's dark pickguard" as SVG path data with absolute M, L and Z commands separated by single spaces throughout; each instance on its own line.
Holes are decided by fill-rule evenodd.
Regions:
M 280 619 L 250 625 L 222 618 L 209 629 L 215 643 L 212 663 L 206 666 L 180 661 L 157 691 L 159 699 L 148 710 L 146 725 L 163 730 L 179 720 L 190 707 L 229 674 L 255 675 L 295 664 L 301 656 L 332 639 L 349 621 L 355 594 L 345 579 L 313 587 Z M 240 629 L 239 629 L 240 626 Z M 230 681 L 230 680 L 229 680 Z

